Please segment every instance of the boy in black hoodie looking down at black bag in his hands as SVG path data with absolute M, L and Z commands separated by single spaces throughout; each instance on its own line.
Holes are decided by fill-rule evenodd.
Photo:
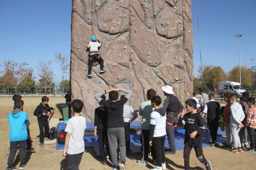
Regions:
M 39 147 L 44 148 L 44 141 L 48 142 L 49 139 L 49 122 L 48 117 L 50 115 L 50 112 L 45 112 L 44 110 L 49 107 L 48 105 L 49 98 L 46 96 L 42 97 L 42 103 L 40 103 L 36 110 L 34 111 L 34 115 L 37 116 L 37 121 L 39 125 L 40 135 L 39 135 Z M 44 134 L 45 132 L 45 134 Z

